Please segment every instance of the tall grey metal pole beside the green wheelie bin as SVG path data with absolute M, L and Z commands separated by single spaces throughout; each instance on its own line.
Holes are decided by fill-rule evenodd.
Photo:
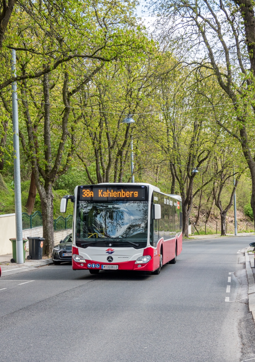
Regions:
M 16 50 L 12 49 L 11 60 L 12 76 L 16 77 Z M 14 163 L 14 191 L 15 191 L 15 219 L 16 219 L 16 254 L 17 264 L 24 264 L 23 236 L 22 236 L 22 209 L 20 186 L 20 140 L 18 135 L 18 94 L 17 82 L 12 83 L 12 131 L 13 131 L 13 163 Z

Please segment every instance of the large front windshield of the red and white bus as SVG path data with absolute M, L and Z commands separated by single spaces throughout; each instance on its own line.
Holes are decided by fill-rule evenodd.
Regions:
M 148 206 L 148 201 L 78 201 L 76 241 L 84 245 L 112 241 L 115 246 L 116 242 L 147 243 Z

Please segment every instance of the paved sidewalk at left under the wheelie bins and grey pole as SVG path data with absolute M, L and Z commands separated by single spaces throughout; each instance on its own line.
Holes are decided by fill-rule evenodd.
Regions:
M 26 252 L 26 257 L 28 252 Z M 53 264 L 52 259 L 41 259 L 41 260 L 25 260 L 24 264 L 11 263 L 12 254 L 0 255 L 0 265 L 2 271 L 2 277 L 22 273 L 24 271 L 35 270 L 39 266 L 45 266 Z

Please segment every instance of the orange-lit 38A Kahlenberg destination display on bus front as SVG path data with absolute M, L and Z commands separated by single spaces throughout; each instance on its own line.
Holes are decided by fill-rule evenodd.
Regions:
M 80 200 L 146 200 L 145 187 L 86 187 L 80 188 Z

